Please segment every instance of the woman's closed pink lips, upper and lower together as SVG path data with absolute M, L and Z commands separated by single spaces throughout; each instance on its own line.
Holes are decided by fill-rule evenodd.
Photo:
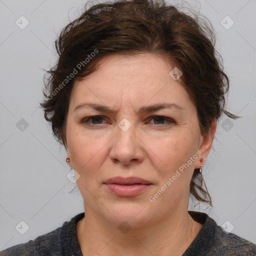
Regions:
M 128 197 L 135 196 L 146 190 L 152 183 L 140 177 L 112 177 L 103 184 L 115 195 Z

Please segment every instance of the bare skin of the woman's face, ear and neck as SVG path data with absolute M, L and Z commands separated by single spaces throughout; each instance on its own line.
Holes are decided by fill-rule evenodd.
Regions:
M 65 147 L 84 200 L 85 217 L 76 225 L 83 255 L 181 255 L 202 227 L 187 212 L 189 183 L 210 151 L 216 122 L 207 136 L 200 133 L 194 104 L 169 75 L 173 67 L 151 53 L 107 55 L 95 72 L 74 83 Z M 73 110 L 88 101 L 113 112 Z M 138 113 L 155 103 L 175 103 L 183 109 Z M 102 118 L 82 123 L 94 115 Z M 172 121 L 151 118 L 155 115 Z M 123 118 L 131 124 L 126 131 L 118 126 Z M 197 151 L 200 156 L 150 202 L 149 196 Z M 138 176 L 152 185 L 139 195 L 121 197 L 102 184 L 114 176 Z M 130 226 L 126 233 L 118 228 L 123 221 Z

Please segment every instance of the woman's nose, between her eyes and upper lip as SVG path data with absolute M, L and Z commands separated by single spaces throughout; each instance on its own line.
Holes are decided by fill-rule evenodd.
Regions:
M 129 165 L 131 162 L 139 163 L 143 160 L 143 143 L 136 133 L 134 125 L 127 130 L 116 127 L 116 135 L 112 139 L 109 153 L 113 162 Z

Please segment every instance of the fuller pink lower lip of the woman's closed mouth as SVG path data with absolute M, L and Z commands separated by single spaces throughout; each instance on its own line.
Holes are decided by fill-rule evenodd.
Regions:
M 150 184 L 119 185 L 105 184 L 107 188 L 118 196 L 134 196 L 146 190 Z

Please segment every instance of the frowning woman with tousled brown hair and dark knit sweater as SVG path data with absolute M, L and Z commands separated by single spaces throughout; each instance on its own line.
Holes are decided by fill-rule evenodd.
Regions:
M 202 166 L 228 78 L 209 26 L 164 2 L 96 4 L 56 41 L 41 103 L 84 200 L 77 214 L 1 255 L 256 255 L 188 211 L 211 205 Z

